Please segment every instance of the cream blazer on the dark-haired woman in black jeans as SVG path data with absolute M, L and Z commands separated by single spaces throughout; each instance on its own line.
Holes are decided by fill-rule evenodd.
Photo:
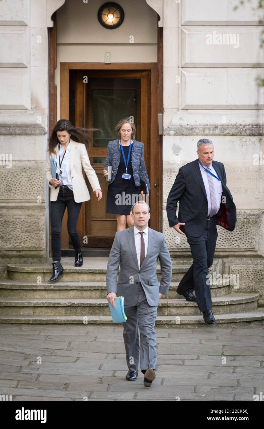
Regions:
M 52 157 L 55 162 L 57 162 L 57 151 L 58 151 L 59 143 L 54 148 L 56 154 L 52 153 Z M 95 192 L 96 189 L 101 190 L 101 186 L 99 184 L 99 180 L 97 175 L 95 174 L 95 170 L 92 168 L 88 153 L 86 151 L 86 146 L 83 143 L 74 142 L 71 139 L 71 151 L 70 151 L 70 169 L 71 169 L 71 181 L 72 181 L 72 189 L 74 195 L 75 202 L 83 202 L 88 201 L 91 197 L 89 194 L 89 190 L 86 186 L 82 166 L 88 177 L 92 190 Z M 58 172 L 58 167 L 57 167 Z M 52 179 L 51 175 L 51 166 L 50 166 L 50 153 L 47 151 L 47 168 L 46 168 L 46 177 L 50 190 L 50 201 L 56 201 L 59 193 L 59 186 L 55 189 L 55 186 L 50 184 L 50 179 Z

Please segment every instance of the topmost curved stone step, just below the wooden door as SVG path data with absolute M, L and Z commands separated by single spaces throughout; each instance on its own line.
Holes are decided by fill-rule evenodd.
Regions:
M 99 258 L 98 258 L 99 259 Z M 92 267 L 92 262 L 84 263 L 82 267 L 75 267 L 67 263 L 62 266 L 64 268 L 63 277 L 60 276 L 59 282 L 69 282 L 69 281 L 105 281 L 106 272 L 107 272 L 107 260 L 105 259 L 104 263 L 98 264 L 98 267 Z M 180 281 L 184 273 L 188 271 L 190 265 L 172 265 L 172 281 Z M 20 280 L 20 281 L 48 281 L 52 273 L 52 265 L 16 265 L 9 264 L 7 266 L 8 277 L 11 280 Z M 157 277 L 160 280 L 160 266 L 157 266 Z

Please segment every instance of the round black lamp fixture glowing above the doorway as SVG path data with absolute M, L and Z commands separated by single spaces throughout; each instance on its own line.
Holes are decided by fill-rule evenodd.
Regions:
M 125 18 L 125 13 L 119 4 L 109 1 L 99 8 L 97 17 L 98 21 L 104 28 L 111 30 L 122 24 Z

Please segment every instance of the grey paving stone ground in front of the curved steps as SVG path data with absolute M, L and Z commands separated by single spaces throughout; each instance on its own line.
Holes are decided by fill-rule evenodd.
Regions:
M 126 381 L 122 325 L 0 325 L 0 394 L 12 401 L 253 401 L 264 326 L 157 326 L 156 379 Z

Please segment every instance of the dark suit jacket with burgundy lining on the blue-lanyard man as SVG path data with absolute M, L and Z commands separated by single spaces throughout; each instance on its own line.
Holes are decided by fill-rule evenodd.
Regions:
M 223 211 L 226 210 L 228 214 L 226 217 L 228 220 L 226 229 L 233 231 L 237 220 L 236 206 L 230 190 L 226 186 L 225 167 L 223 163 L 217 161 L 213 161 L 212 165 L 221 179 L 223 190 L 223 203 L 221 203 L 217 216 L 223 215 Z M 180 206 L 177 218 L 178 201 Z M 179 169 L 169 192 L 166 210 L 170 227 L 182 222 L 185 225 L 181 226 L 181 231 L 187 236 L 199 237 L 202 234 L 208 217 L 208 201 L 198 159 Z

